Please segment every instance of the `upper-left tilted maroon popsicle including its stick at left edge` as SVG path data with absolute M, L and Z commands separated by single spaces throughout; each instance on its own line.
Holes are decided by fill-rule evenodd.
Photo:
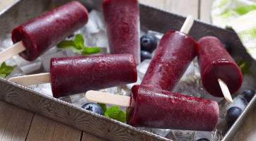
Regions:
M 88 22 L 88 11 L 77 1 L 55 8 L 13 29 L 13 46 L 0 53 L 0 63 L 19 54 L 34 61 Z

